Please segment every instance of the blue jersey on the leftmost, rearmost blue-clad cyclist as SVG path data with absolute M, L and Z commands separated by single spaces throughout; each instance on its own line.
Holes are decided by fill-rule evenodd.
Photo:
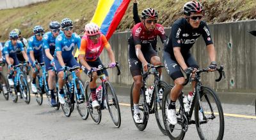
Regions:
M 5 55 L 16 55 L 17 50 L 24 51 L 24 47 L 21 41 L 17 40 L 15 46 L 12 45 L 12 41 L 6 41 L 2 50 L 3 56 Z

